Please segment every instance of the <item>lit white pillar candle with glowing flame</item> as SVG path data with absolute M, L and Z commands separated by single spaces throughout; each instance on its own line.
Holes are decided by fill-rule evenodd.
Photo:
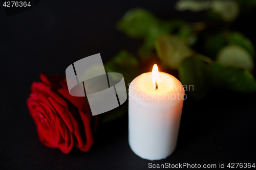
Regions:
M 143 159 L 160 160 L 176 148 L 184 100 L 180 81 L 156 64 L 129 86 L 129 144 Z

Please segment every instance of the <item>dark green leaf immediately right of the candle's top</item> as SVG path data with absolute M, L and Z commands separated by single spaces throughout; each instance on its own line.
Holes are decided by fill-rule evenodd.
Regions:
M 187 87 L 188 93 L 196 100 L 202 99 L 210 88 L 209 64 L 202 58 L 205 56 L 190 57 L 184 60 L 179 67 L 179 77 L 184 87 Z M 209 58 L 207 60 L 210 60 Z M 191 88 L 193 86 L 193 88 Z M 188 88 L 189 87 L 189 88 Z

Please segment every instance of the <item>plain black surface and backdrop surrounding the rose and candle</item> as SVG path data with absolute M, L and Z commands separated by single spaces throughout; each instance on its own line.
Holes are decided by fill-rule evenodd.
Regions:
M 177 12 L 170 1 L 46 1 L 6 17 L 0 7 L 0 169 L 146 169 L 148 163 L 253 163 L 256 153 L 255 95 L 212 92 L 202 101 L 186 100 L 176 151 L 161 161 L 136 156 L 127 141 L 127 116 L 101 124 L 88 153 L 65 155 L 38 139 L 26 100 L 39 73 L 65 75 L 74 61 L 100 53 L 108 61 L 123 48 L 135 52 L 141 41 L 115 30 L 129 9 L 143 7 L 162 18 L 204 20 L 203 13 Z M 255 12 L 254 12 L 255 13 Z M 255 44 L 250 18 L 233 30 Z

